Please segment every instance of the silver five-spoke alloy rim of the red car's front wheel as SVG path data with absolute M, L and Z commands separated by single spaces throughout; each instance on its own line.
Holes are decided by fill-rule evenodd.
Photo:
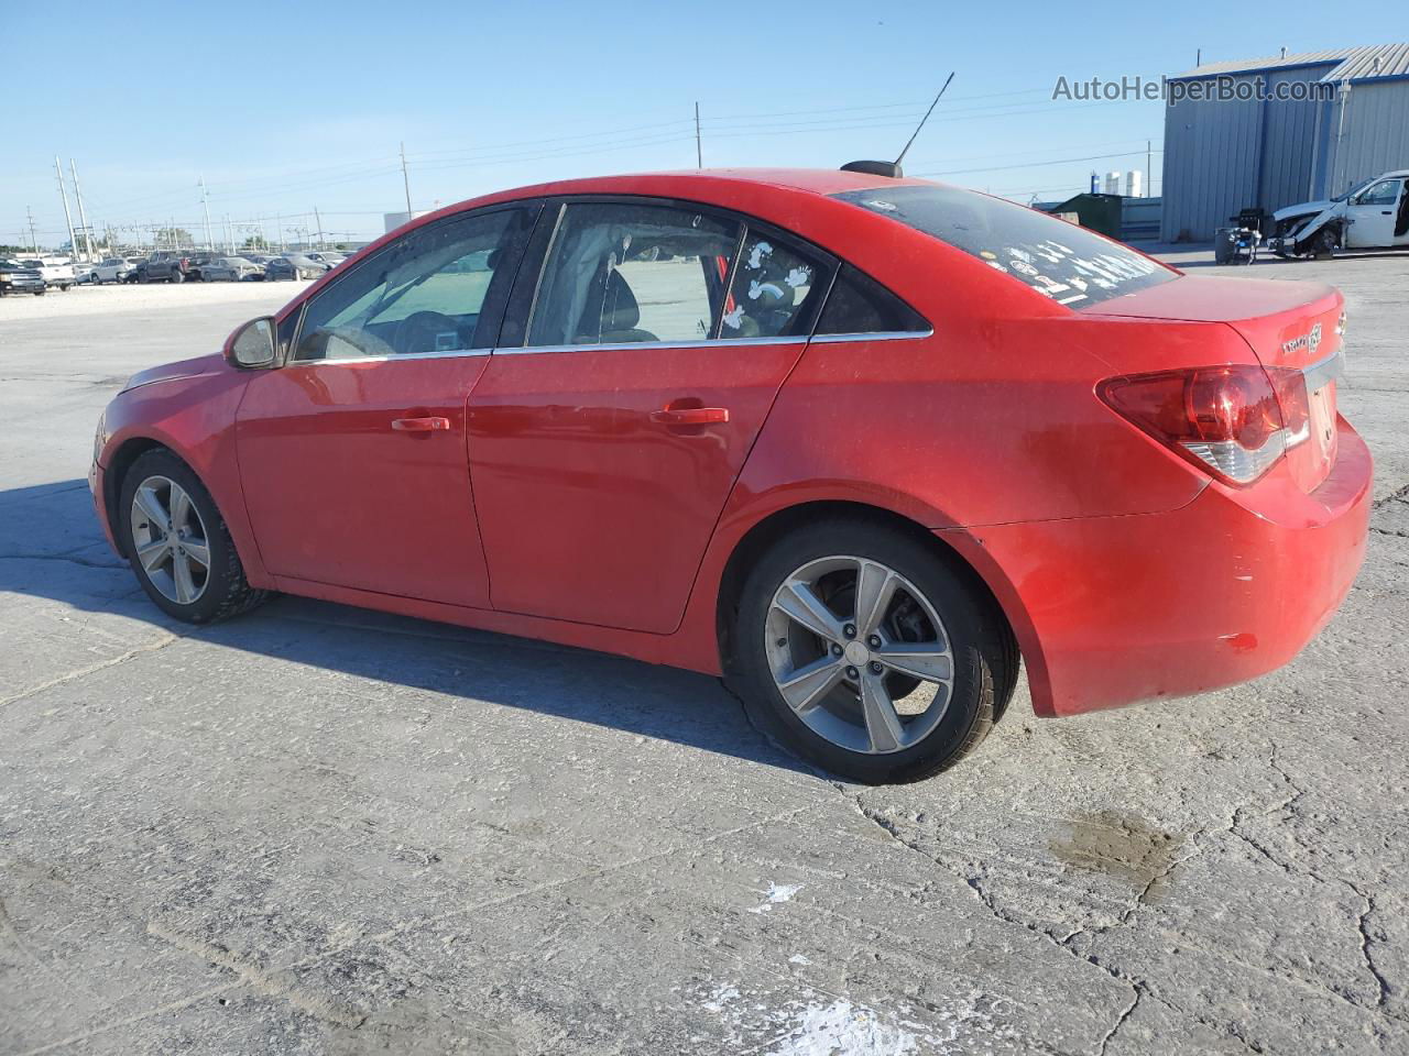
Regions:
M 210 536 L 186 490 L 151 476 L 132 493 L 132 546 L 147 579 L 178 605 L 200 600 L 210 582 Z

